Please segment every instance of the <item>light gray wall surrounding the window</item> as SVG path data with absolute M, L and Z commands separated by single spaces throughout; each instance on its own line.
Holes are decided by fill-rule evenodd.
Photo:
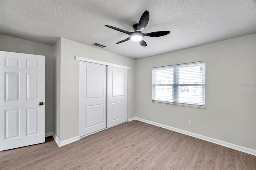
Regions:
M 206 61 L 206 109 L 152 103 L 152 67 Z M 136 60 L 136 117 L 256 149 L 256 34 Z M 192 125 L 188 124 L 192 119 Z

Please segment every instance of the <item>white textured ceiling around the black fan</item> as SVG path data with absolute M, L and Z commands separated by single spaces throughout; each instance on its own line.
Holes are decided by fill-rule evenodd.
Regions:
M 150 19 L 142 33 L 170 31 L 144 37 L 142 47 L 110 25 L 133 32 L 145 10 Z M 92 45 L 139 59 L 256 33 L 256 1 L 0 1 L 0 34 L 47 45 L 58 39 Z M 100 47 L 96 47 L 102 49 Z

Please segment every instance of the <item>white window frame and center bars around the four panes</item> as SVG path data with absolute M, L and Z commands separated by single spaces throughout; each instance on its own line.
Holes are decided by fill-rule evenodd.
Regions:
M 190 65 L 190 64 L 197 64 L 197 63 L 204 63 L 204 71 L 202 71 L 202 84 L 179 84 L 178 79 L 179 79 L 179 71 L 178 71 L 178 67 L 182 66 L 182 65 Z M 163 84 L 163 85 L 157 85 L 154 84 L 154 69 L 158 69 L 158 68 L 173 68 L 173 84 Z M 184 106 L 184 107 L 193 107 L 193 108 L 198 108 L 198 109 L 205 109 L 205 105 L 206 105 L 206 96 L 205 96 L 205 84 L 206 84 L 206 63 L 205 61 L 198 61 L 198 62 L 193 62 L 193 63 L 184 63 L 184 64 L 177 64 L 177 65 L 168 65 L 168 66 L 162 66 L 162 67 L 153 67 L 152 68 L 152 102 L 153 103 L 161 103 L 161 104 L 168 104 L 168 105 L 176 105 L 176 106 Z M 162 100 L 156 100 L 154 99 L 154 91 L 156 89 L 156 86 L 172 86 L 172 101 L 174 102 L 170 102 L 170 101 L 162 101 Z M 197 105 L 195 103 L 179 103 L 178 102 L 178 98 L 179 98 L 179 86 L 200 86 L 201 88 L 201 99 L 202 99 L 202 105 Z

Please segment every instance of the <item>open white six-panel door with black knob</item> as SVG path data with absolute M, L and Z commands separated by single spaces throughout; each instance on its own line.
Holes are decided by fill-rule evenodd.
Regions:
M 0 150 L 45 142 L 44 56 L 0 51 Z

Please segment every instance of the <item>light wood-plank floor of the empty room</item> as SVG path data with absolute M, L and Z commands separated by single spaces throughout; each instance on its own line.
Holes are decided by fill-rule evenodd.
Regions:
M 132 121 L 58 147 L 52 137 L 0 152 L 0 169 L 256 170 L 256 156 Z

